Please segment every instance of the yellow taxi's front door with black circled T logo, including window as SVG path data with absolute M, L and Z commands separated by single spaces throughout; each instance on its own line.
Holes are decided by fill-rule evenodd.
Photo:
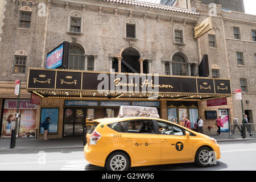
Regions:
M 171 123 L 157 121 L 160 131 L 161 162 L 192 160 L 192 140 L 183 129 Z

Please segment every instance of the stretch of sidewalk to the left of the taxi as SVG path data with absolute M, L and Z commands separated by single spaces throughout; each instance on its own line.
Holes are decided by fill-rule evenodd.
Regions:
M 15 150 L 44 150 L 57 148 L 83 148 L 82 137 L 60 139 L 16 138 L 16 145 L 10 148 L 10 138 L 0 138 L 0 152 Z

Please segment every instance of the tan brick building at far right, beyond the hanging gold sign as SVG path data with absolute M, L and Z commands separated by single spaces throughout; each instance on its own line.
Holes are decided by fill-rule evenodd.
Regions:
M 209 7 L 199 1 L 192 3 L 192 8 L 201 15 L 201 19 L 208 17 Z M 220 67 L 220 76 L 229 77 L 232 84 L 234 115 L 238 115 L 242 121 L 241 101 L 236 100 L 234 91 L 242 88 L 243 109 L 253 122 L 256 115 L 255 110 L 255 67 L 256 67 L 256 16 L 240 13 L 237 11 L 222 11 L 217 5 L 217 16 L 212 17 L 213 31 L 216 37 L 216 47 L 208 46 L 208 37 L 200 38 L 201 51 L 208 53 L 210 63 L 226 64 Z M 238 31 L 237 31 L 238 30 Z M 214 68 L 214 65 L 209 65 Z M 228 69 L 226 69 L 228 68 Z

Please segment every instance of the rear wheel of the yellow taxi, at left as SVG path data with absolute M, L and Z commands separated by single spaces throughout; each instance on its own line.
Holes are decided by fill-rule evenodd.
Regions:
M 114 152 L 108 156 L 105 167 L 108 171 L 127 171 L 130 167 L 129 157 L 124 152 Z

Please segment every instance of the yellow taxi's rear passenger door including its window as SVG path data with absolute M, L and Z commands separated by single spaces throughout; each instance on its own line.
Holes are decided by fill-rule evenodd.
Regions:
M 131 120 L 122 133 L 123 145 L 135 164 L 160 162 L 161 146 L 151 120 Z

